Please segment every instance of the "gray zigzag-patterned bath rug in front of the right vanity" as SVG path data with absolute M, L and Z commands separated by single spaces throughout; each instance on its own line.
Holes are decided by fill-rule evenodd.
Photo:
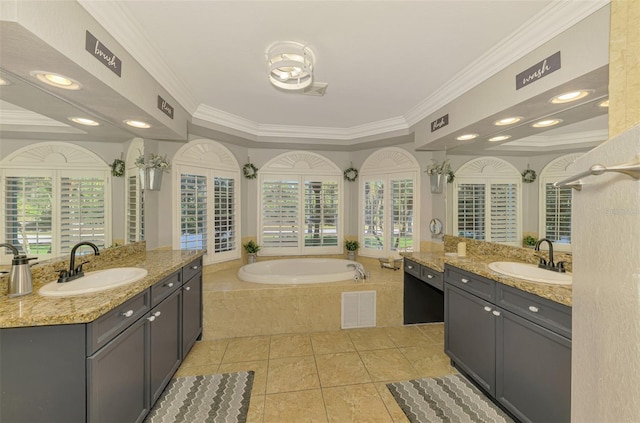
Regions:
M 387 388 L 411 423 L 513 423 L 462 375 L 389 383 Z

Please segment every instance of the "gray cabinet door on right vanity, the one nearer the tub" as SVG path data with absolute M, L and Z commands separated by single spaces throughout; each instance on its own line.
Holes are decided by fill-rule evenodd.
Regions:
M 450 284 L 445 284 L 445 353 L 456 367 L 495 394 L 495 306 Z

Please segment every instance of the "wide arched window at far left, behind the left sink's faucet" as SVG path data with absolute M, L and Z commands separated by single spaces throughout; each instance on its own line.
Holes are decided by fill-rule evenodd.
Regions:
M 34 144 L 5 158 L 0 173 L 0 236 L 21 253 L 44 260 L 68 254 L 80 241 L 111 244 L 109 167 L 92 152 Z

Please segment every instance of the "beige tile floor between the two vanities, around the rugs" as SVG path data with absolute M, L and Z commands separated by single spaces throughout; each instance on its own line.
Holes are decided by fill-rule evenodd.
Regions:
M 248 423 L 407 422 L 386 383 L 455 373 L 442 324 L 198 342 L 176 376 L 254 370 Z

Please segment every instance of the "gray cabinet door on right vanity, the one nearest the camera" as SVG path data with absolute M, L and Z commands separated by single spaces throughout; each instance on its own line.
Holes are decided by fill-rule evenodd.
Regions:
M 571 341 L 501 310 L 496 399 L 523 422 L 571 420 Z

